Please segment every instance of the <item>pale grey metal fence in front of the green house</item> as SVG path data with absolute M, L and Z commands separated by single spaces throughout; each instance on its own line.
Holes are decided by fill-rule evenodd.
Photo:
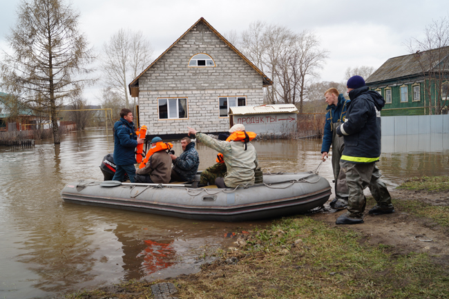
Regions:
M 401 115 L 382 117 L 382 137 L 449 133 L 449 115 Z

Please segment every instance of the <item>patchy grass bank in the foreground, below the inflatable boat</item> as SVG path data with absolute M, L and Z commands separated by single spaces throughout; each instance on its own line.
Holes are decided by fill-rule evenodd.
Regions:
M 449 298 L 448 269 L 427 254 L 372 247 L 355 231 L 305 216 L 279 220 L 238 242 L 242 247 L 200 273 L 178 278 L 178 297 Z

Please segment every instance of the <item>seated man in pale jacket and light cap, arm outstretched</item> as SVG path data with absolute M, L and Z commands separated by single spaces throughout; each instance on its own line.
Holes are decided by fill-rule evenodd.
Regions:
M 189 128 L 190 135 L 195 135 L 205 146 L 223 154 L 227 174 L 225 177 L 217 177 L 218 188 L 235 188 L 240 184 L 254 184 L 254 171 L 258 160 L 256 148 L 249 141 L 256 137 L 256 133 L 245 132 L 245 126 L 242 124 L 234 125 L 229 129 L 229 133 L 231 135 L 227 141 L 220 141 L 197 132 L 194 128 Z

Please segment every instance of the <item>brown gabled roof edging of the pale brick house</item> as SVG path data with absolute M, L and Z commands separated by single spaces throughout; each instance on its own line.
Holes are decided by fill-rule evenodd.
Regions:
M 198 23 L 204 23 L 204 25 L 206 25 L 213 33 L 215 33 L 222 41 L 225 42 L 225 44 L 227 44 L 227 46 L 229 46 L 229 48 L 231 48 L 232 50 L 234 50 L 234 52 L 236 52 L 240 57 L 242 57 L 243 60 L 245 60 L 247 62 L 247 64 L 249 64 L 252 68 L 254 68 L 254 70 L 256 70 L 257 73 L 259 73 L 262 76 L 262 81 L 263 81 L 263 86 L 269 86 L 273 84 L 273 81 L 271 81 L 271 79 L 269 79 L 269 77 L 267 77 L 267 75 L 265 75 L 264 73 L 262 73 L 262 70 L 260 70 L 257 66 L 255 66 L 251 61 L 249 61 L 249 59 L 247 59 L 247 57 L 245 57 L 245 55 L 243 55 L 239 50 L 237 50 L 236 47 L 232 46 L 232 44 L 227 41 L 227 39 L 225 39 L 225 37 L 223 37 L 222 35 L 220 35 L 220 33 L 211 26 L 211 24 L 207 23 L 207 21 L 201 17 L 198 21 L 196 21 L 191 28 L 189 28 L 186 32 L 184 32 L 183 35 L 180 36 L 180 38 L 176 39 L 176 41 L 171 44 L 171 46 L 169 46 L 168 49 L 166 49 L 159 57 L 157 57 L 147 68 L 145 68 L 145 70 L 140 73 L 140 75 L 138 75 L 129 85 L 128 85 L 128 89 L 129 92 L 131 93 L 131 87 L 135 87 L 137 85 L 137 82 L 139 81 L 139 78 L 144 75 L 144 73 L 149 70 L 162 56 L 165 55 L 166 52 L 169 52 L 169 50 L 171 48 L 173 48 L 173 46 L 175 46 L 175 44 L 178 43 L 178 41 L 180 41 L 180 39 L 182 39 L 182 37 L 184 37 L 185 35 L 187 35 L 187 33 L 192 30 L 193 27 L 195 27 Z

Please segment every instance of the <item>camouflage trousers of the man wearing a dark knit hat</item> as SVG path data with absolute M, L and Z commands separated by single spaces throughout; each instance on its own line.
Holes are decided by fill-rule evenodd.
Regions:
M 354 164 L 341 161 L 340 167 L 346 174 L 346 184 L 349 189 L 347 211 L 354 217 L 362 217 L 365 211 L 366 198 L 363 190 L 370 188 L 371 195 L 378 206 L 393 206 L 387 186 L 381 181 L 381 173 L 376 162 Z

